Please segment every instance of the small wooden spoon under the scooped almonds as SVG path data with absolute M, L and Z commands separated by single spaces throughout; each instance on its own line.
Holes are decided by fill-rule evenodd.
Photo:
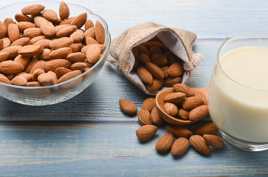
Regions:
M 195 91 L 203 92 L 205 96 L 208 98 L 209 87 L 193 87 L 191 89 Z M 163 90 L 156 95 L 155 101 L 156 101 L 156 108 L 157 108 L 158 113 L 160 114 L 162 119 L 164 119 L 165 121 L 171 124 L 183 125 L 183 124 L 194 123 L 193 121 L 189 119 L 188 120 L 179 119 L 176 117 L 172 117 L 169 114 L 164 112 L 164 104 L 165 104 L 164 97 L 175 92 L 176 92 L 175 89 L 172 88 L 172 89 Z

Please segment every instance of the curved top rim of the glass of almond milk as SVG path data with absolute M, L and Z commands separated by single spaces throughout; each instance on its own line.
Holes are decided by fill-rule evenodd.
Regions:
M 254 89 L 254 88 L 252 88 L 252 87 L 250 87 L 250 86 L 247 86 L 247 85 L 244 85 L 244 84 L 242 84 L 242 83 L 239 83 L 238 81 L 236 81 L 236 80 L 234 80 L 233 78 L 231 78 L 231 77 L 230 77 L 230 76 L 229 76 L 229 75 L 222 69 L 222 67 L 221 67 L 221 65 L 220 65 L 220 62 L 219 62 L 219 54 L 220 54 L 220 51 L 221 51 L 222 47 L 224 47 L 224 46 L 227 44 L 227 42 L 229 42 L 229 41 L 231 41 L 231 40 L 233 40 L 233 39 L 236 39 L 236 38 L 238 38 L 238 37 L 240 37 L 240 36 L 248 35 L 248 34 L 259 34 L 259 35 L 261 35 L 261 34 L 265 34 L 265 35 L 267 35 L 267 38 L 268 38 L 268 32 L 261 32 L 261 31 L 256 31 L 256 32 L 243 32 L 243 33 L 234 35 L 234 36 L 228 38 L 226 41 L 224 41 L 224 42 L 222 43 L 222 45 L 220 46 L 220 48 L 218 49 L 218 52 L 217 52 L 217 59 L 216 59 L 216 64 L 219 66 L 219 68 L 220 68 L 220 72 L 221 72 L 221 73 L 222 73 L 228 80 L 232 81 L 233 83 L 236 83 L 236 84 L 238 84 L 238 85 L 240 85 L 240 86 L 242 86 L 242 87 L 245 87 L 246 89 L 255 90 L 255 91 L 258 91 L 258 92 L 268 92 L 268 90 Z M 238 49 L 238 48 L 237 48 L 237 49 Z

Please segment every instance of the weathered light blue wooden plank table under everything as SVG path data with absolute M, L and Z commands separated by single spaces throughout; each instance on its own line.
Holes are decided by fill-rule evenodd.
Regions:
M 25 1 L 25 0 L 24 0 Z M 0 6 L 19 1 L 1 1 Z M 193 50 L 204 55 L 189 83 L 208 86 L 216 52 L 228 37 L 268 30 L 267 1 L 66 1 L 91 9 L 108 23 L 112 37 L 152 21 L 197 34 Z M 181 158 L 139 143 L 137 117 L 124 115 L 119 98 L 141 104 L 147 96 L 114 66 L 75 98 L 32 107 L 0 98 L 0 176 L 222 176 L 268 175 L 268 151 L 228 145 L 203 157 L 190 148 Z M 268 136 L 268 135 L 267 135 Z

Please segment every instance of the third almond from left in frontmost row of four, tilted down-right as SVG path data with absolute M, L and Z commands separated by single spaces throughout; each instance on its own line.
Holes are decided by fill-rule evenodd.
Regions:
M 190 143 L 193 148 L 202 155 L 209 156 L 210 148 L 207 145 L 205 139 L 199 135 L 193 135 L 190 137 Z

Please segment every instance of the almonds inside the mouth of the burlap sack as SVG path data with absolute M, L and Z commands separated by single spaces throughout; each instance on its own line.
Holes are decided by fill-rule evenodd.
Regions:
M 182 60 L 166 48 L 157 36 L 132 48 L 132 53 L 135 57 L 132 71 L 137 72 L 149 92 L 182 82 Z

